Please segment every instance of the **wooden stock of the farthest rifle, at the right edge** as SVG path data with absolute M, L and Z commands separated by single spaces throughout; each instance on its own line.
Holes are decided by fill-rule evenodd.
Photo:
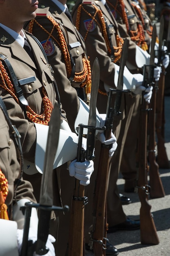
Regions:
M 170 163 L 165 148 L 164 140 L 164 87 L 165 68 L 162 66 L 162 73 L 159 79 L 159 90 L 157 91 L 156 103 L 156 133 L 157 133 L 157 163 L 159 168 L 169 169 Z

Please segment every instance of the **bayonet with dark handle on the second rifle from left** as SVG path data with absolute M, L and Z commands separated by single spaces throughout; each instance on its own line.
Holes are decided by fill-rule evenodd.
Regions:
M 89 106 L 89 120 L 88 126 L 96 126 L 96 102 L 98 95 L 98 87 L 100 81 L 100 68 L 98 63 L 98 58 L 95 58 L 92 68 L 92 85 L 91 85 L 91 97 L 90 97 L 90 106 Z M 95 129 L 88 128 L 87 132 L 87 150 L 86 150 L 86 159 L 94 159 L 94 144 L 95 144 Z

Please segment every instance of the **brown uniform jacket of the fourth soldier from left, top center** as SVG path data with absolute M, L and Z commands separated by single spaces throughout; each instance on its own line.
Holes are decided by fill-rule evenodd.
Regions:
M 72 17 L 74 24 L 76 25 L 76 17 L 78 15 L 78 6 L 81 4 L 82 1 L 78 0 L 76 1 L 76 4 L 74 6 L 74 9 L 72 11 Z M 112 42 L 113 46 L 117 46 L 116 43 L 116 35 L 120 37 L 119 31 L 118 31 L 118 24 L 116 20 L 114 19 L 113 15 L 108 13 L 107 9 L 100 1 L 92 1 L 92 4 L 95 4 L 95 6 L 101 10 L 103 13 L 103 16 L 105 18 L 105 22 L 107 23 L 107 27 L 110 34 L 110 40 Z M 101 113 L 105 113 L 106 111 L 106 105 L 107 105 L 107 96 L 104 95 L 105 89 L 104 89 L 104 83 L 109 85 L 110 88 L 115 88 L 114 85 L 114 63 L 111 60 L 110 53 L 108 52 L 107 45 L 105 38 L 103 37 L 102 29 L 101 29 L 101 22 L 98 19 L 98 16 L 96 15 L 96 21 L 92 22 L 91 29 L 88 31 L 87 34 L 87 26 L 88 23 L 91 22 L 92 17 L 96 13 L 96 9 L 92 4 L 83 4 L 83 9 L 81 9 L 81 15 L 80 15 L 80 22 L 78 30 L 80 31 L 81 35 L 83 36 L 85 40 L 85 45 L 87 49 L 87 54 L 90 57 L 90 63 L 94 62 L 95 58 L 98 58 L 99 64 L 100 64 L 100 85 L 99 89 L 102 93 L 98 93 L 98 99 L 97 99 L 97 108 L 98 111 Z M 90 13 L 90 15 L 88 14 Z M 134 63 L 134 57 L 135 57 L 135 47 L 136 45 L 130 40 L 129 37 L 129 58 L 127 61 L 127 67 L 129 63 L 131 65 L 135 65 Z M 119 62 L 118 62 L 119 65 Z M 136 66 L 135 66 L 136 68 Z M 122 110 L 124 110 L 124 105 L 122 101 Z M 123 111 L 122 111 L 123 113 Z M 124 115 L 120 115 L 122 118 Z

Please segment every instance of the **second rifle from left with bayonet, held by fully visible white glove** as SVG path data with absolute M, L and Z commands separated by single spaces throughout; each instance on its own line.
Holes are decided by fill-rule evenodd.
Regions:
M 91 100 L 89 106 L 88 125 L 79 124 L 77 162 L 84 162 L 85 159 L 94 159 L 94 144 L 96 129 L 96 101 L 99 86 L 99 64 L 96 58 L 92 68 Z M 83 128 L 87 128 L 87 150 L 82 148 Z M 75 189 L 72 198 L 71 220 L 69 227 L 69 256 L 85 256 L 84 239 L 84 207 L 88 198 L 84 195 L 84 186 L 76 179 Z

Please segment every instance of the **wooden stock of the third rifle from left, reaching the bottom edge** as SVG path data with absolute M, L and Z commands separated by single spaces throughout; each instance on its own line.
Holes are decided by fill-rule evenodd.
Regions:
M 110 108 L 112 99 L 112 90 L 108 93 L 108 103 L 105 121 L 105 139 L 110 139 L 113 123 L 113 110 Z M 106 230 L 107 224 L 105 219 L 106 199 L 107 199 L 107 183 L 109 178 L 109 150 L 110 145 L 101 145 L 100 158 L 98 163 L 98 171 L 96 177 L 96 186 L 94 191 L 94 210 L 93 210 L 93 231 L 89 243 L 93 247 L 95 256 L 105 256 L 106 247 Z

